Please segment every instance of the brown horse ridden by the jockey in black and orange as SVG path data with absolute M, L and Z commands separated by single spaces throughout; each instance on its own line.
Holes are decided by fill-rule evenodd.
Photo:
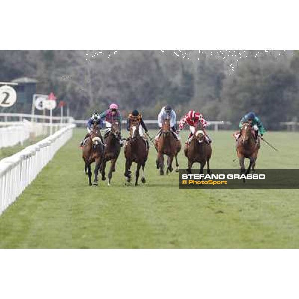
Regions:
M 127 182 L 131 181 L 131 165 L 133 162 L 137 164 L 137 169 L 135 172 L 136 180 L 135 186 L 138 185 L 138 177 L 140 167 L 142 167 L 142 177 L 141 182 L 145 183 L 146 179 L 144 177 L 144 168 L 148 158 L 149 148 L 147 146 L 146 141 L 139 135 L 138 127 L 140 124 L 131 123 L 130 126 L 130 136 L 127 141 L 127 144 L 124 149 L 125 158 L 126 158 L 126 169 L 125 169 L 125 177 L 127 178 Z

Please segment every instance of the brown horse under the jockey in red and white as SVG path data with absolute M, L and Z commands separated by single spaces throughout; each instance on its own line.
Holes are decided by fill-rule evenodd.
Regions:
M 184 149 L 185 156 L 188 158 L 188 172 L 191 173 L 193 163 L 200 163 L 200 172 L 203 174 L 203 168 L 207 163 L 208 174 L 211 174 L 210 170 L 210 158 L 212 155 L 211 144 L 205 140 L 204 132 L 202 130 L 196 130 L 193 138 L 188 147 Z

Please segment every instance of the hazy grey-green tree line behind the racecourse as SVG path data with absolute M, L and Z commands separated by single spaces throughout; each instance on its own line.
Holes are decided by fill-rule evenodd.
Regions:
M 253 110 L 276 130 L 298 117 L 298 74 L 299 51 L 0 51 L 0 81 L 35 78 L 37 93 L 53 91 L 77 119 L 110 102 L 155 119 L 168 103 L 179 117 L 195 109 L 233 127 Z

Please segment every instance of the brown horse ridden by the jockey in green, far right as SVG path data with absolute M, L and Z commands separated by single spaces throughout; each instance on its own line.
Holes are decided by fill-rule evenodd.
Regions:
M 254 170 L 256 159 L 258 157 L 260 145 L 256 143 L 254 132 L 251 124 L 244 123 L 241 128 L 241 135 L 236 141 L 237 156 L 239 158 L 241 173 L 245 172 L 244 159 L 249 159 L 249 167 L 245 174 L 250 172 L 250 168 Z

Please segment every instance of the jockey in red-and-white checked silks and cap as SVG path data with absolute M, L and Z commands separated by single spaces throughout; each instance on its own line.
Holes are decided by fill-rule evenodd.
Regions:
M 203 118 L 203 115 L 199 112 L 195 112 L 194 110 L 190 110 L 179 122 L 179 129 L 182 130 L 185 124 L 188 124 L 190 126 L 191 133 L 189 134 L 188 139 L 186 140 L 186 145 L 189 145 L 193 134 L 196 131 L 196 127 L 199 125 L 202 127 L 202 131 L 206 137 L 206 141 L 208 143 L 211 143 L 211 138 L 207 135 L 205 132 L 205 127 L 208 126 L 208 122 Z

